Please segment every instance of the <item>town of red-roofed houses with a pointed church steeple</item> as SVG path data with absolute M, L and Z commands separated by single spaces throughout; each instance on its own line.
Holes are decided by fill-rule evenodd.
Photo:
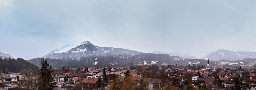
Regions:
M 55 90 L 255 90 L 256 71 L 238 67 L 172 66 L 62 67 L 53 69 Z M 26 75 L 27 74 L 27 75 Z M 1 73 L 1 89 L 31 89 L 38 76 Z M 28 77 L 29 76 L 29 77 Z M 26 86 L 29 83 L 29 86 Z M 34 88 L 36 89 L 36 87 Z

